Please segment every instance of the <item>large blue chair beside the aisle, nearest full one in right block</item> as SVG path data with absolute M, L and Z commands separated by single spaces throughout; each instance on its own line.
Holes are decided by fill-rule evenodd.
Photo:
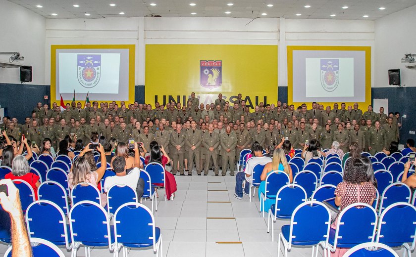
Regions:
M 313 220 L 313 222 L 311 222 Z M 279 234 L 277 257 L 280 257 L 280 242 L 285 249 L 285 257 L 292 246 L 311 246 L 312 256 L 319 245 L 323 251 L 328 247 L 328 235 L 331 225 L 331 214 L 320 202 L 310 201 L 296 207 L 290 220 L 290 225 L 282 226 Z

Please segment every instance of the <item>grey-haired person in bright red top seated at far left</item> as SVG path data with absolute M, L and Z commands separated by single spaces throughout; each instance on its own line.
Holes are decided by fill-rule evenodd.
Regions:
M 30 172 L 29 163 L 23 155 L 14 157 L 13 164 L 11 166 L 11 172 L 7 173 L 4 178 L 21 179 L 29 183 L 35 193 L 35 199 L 38 200 L 38 186 L 39 176 Z

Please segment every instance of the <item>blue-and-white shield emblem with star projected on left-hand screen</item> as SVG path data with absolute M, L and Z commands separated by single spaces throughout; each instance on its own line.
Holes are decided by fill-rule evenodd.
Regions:
M 101 54 L 78 54 L 78 82 L 84 87 L 94 87 L 101 78 Z

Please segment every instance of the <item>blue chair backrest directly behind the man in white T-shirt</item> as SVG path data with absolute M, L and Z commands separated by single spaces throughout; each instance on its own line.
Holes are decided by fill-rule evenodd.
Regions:
M 136 189 L 127 185 L 112 185 L 107 192 L 108 216 L 125 203 L 138 202 Z

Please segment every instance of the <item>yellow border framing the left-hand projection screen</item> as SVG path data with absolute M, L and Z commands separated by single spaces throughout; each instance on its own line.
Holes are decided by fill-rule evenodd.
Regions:
M 56 76 L 57 76 L 57 52 L 58 50 L 62 49 L 74 49 L 79 52 L 83 52 L 83 50 L 90 50 L 90 49 L 121 49 L 121 50 L 128 50 L 128 99 L 124 101 L 127 103 L 134 102 L 134 86 L 135 86 L 135 53 L 136 53 L 136 46 L 134 44 L 59 44 L 59 45 L 51 45 L 51 103 L 56 102 L 59 106 L 60 97 L 59 93 L 56 95 Z M 76 93 L 76 102 L 81 102 L 82 106 L 85 104 L 85 98 L 87 93 Z M 66 103 L 70 103 L 72 101 L 71 98 L 63 97 L 63 100 Z M 98 102 L 109 102 L 109 100 L 97 100 L 94 99 L 91 92 L 89 94 L 90 101 L 98 101 Z M 120 105 L 120 101 L 116 101 L 117 104 Z

